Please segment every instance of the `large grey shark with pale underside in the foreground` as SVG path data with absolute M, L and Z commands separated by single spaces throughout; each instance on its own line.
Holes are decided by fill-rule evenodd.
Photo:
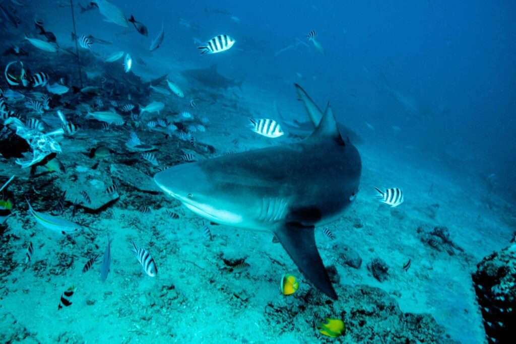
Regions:
M 315 111 L 310 97 L 302 100 L 309 114 Z M 154 181 L 209 221 L 272 233 L 306 279 L 336 300 L 314 228 L 344 214 L 361 172 L 357 148 L 342 138 L 327 106 L 302 141 L 176 165 Z

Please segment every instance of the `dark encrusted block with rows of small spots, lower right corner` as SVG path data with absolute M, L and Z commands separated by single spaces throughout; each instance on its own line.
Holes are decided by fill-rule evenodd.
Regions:
M 483 258 L 472 278 L 488 341 L 514 340 L 516 243 Z

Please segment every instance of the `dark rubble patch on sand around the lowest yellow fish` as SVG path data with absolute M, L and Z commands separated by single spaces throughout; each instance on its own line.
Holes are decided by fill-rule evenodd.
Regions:
M 403 313 L 396 301 L 385 291 L 359 285 L 344 285 L 345 298 L 325 300 L 319 293 L 295 294 L 285 303 L 284 299 L 269 302 L 265 306 L 270 335 L 279 332 L 299 332 L 312 327 L 319 340 L 325 340 L 317 330 L 317 323 L 325 318 L 342 319 L 346 324 L 346 342 L 376 343 L 441 343 L 456 341 L 446 336 L 443 327 L 428 314 Z M 327 339 L 330 342 L 331 339 Z M 331 341 L 333 342 L 333 341 Z

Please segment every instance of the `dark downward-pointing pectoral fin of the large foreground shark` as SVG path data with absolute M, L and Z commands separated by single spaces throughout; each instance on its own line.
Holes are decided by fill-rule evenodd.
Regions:
M 287 223 L 274 233 L 303 275 L 316 288 L 336 300 L 337 294 L 315 245 L 314 226 Z

